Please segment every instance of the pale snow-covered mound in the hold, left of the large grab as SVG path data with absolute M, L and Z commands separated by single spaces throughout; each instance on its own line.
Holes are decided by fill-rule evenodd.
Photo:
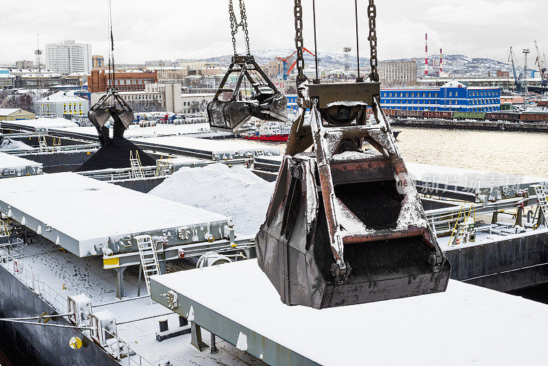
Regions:
M 149 194 L 232 217 L 238 234 L 257 234 L 266 217 L 275 183 L 244 167 L 211 164 L 184 167 Z

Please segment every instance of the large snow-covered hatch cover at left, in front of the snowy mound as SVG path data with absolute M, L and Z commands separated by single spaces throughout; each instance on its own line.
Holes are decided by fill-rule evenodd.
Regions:
M 8 214 L 11 206 L 23 212 L 25 225 L 52 241 L 55 233 L 69 236 L 78 248 L 65 249 L 78 256 L 100 254 L 109 236 L 127 235 L 168 228 L 179 228 L 228 218 L 101 182 L 75 173 L 55 173 L 0 180 L 0 210 Z M 21 217 L 14 217 L 17 221 Z M 20 221 L 21 222 L 21 221 Z M 51 226 L 47 232 L 45 224 Z M 53 239 L 49 236 L 53 236 Z M 62 237 L 62 236 L 61 236 Z

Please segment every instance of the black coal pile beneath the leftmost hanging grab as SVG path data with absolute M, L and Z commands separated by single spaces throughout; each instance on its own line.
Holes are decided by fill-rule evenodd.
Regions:
M 101 149 L 97 150 L 97 152 L 76 169 L 76 171 L 129 168 L 129 154 L 131 151 L 133 151 L 134 156 L 135 151 L 138 151 L 143 167 L 149 167 L 156 164 L 153 158 L 148 156 L 145 151 L 142 151 L 131 141 L 128 141 L 123 137 L 114 137 L 111 138 L 108 143 L 101 146 Z

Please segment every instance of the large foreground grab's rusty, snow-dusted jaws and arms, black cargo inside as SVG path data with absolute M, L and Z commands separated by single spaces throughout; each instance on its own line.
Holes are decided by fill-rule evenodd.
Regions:
M 329 308 L 445 291 L 451 267 L 390 126 L 328 129 L 311 110 L 314 152 L 293 149 L 294 125 L 256 236 L 258 263 L 282 301 Z M 345 136 L 375 148 L 341 151 L 351 145 Z

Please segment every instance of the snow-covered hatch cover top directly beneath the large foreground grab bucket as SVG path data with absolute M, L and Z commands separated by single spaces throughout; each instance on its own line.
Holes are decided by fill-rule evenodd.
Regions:
M 154 280 L 321 365 L 546 362 L 547 305 L 453 280 L 445 293 L 323 310 L 283 304 L 256 260 Z

